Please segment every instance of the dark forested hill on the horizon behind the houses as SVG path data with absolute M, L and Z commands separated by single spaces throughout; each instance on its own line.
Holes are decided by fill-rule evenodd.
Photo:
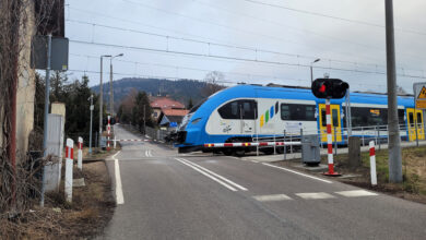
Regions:
M 162 96 L 168 95 L 169 97 L 181 101 L 187 105 L 189 99 L 192 98 L 192 103 L 197 104 L 202 98 L 203 88 L 206 83 L 194 80 L 164 80 L 164 79 L 121 79 L 114 81 L 114 101 L 118 106 L 121 100 L 130 93 L 132 88 L 137 91 L 144 91 L 149 95 Z M 99 93 L 99 85 L 93 86 L 92 89 L 95 93 Z M 109 101 L 109 82 L 103 84 L 104 100 Z

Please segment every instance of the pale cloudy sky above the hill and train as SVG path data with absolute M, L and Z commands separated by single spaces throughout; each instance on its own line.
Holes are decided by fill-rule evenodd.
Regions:
M 329 73 L 353 91 L 386 91 L 383 0 L 68 0 L 70 79 L 131 76 L 310 84 Z M 426 2 L 394 0 L 398 84 L 426 82 Z M 176 53 L 180 52 L 180 53 Z M 210 57 L 209 57 L 210 56 Z M 212 57 L 214 56 L 214 57 Z M 109 60 L 105 60 L 108 79 Z M 378 72 L 379 74 L 377 74 Z M 422 77 L 414 77 L 422 76 Z

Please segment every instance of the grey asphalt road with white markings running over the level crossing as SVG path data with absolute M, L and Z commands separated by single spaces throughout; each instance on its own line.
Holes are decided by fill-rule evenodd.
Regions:
M 425 205 L 274 165 L 152 142 L 107 165 L 118 205 L 103 239 L 426 238 Z

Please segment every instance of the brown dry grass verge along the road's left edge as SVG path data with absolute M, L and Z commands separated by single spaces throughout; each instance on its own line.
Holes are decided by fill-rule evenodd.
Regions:
M 34 212 L 0 219 L 0 239 L 86 239 L 103 232 L 115 208 L 105 163 L 84 164 L 80 175 L 86 185 L 73 189 L 72 204 L 62 191 L 49 194 L 45 208 L 35 203 Z

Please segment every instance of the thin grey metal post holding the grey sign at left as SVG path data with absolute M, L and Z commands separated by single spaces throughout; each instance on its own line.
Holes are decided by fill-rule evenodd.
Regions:
M 46 87 L 45 87 L 45 122 L 43 125 L 43 151 L 44 157 L 47 156 L 47 128 L 49 125 L 49 96 L 50 96 L 50 57 L 51 57 L 51 34 L 47 35 L 47 67 L 46 67 Z M 45 206 L 45 167 L 42 176 L 42 196 L 40 206 Z

